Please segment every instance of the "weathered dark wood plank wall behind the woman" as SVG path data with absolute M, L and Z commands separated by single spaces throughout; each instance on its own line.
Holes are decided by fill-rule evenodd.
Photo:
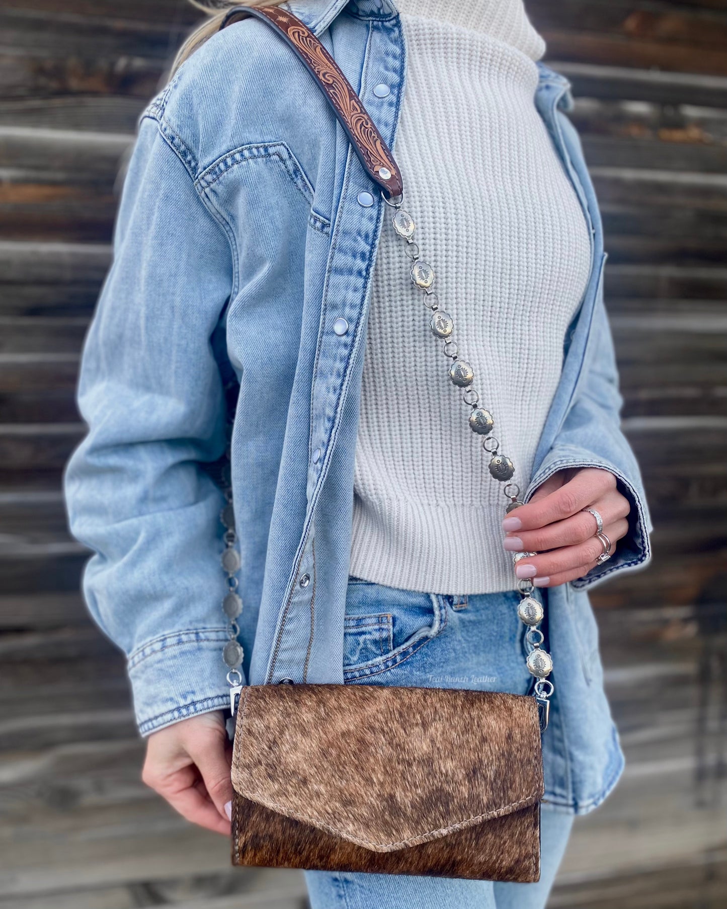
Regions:
M 656 524 L 652 567 L 594 597 L 630 771 L 581 824 L 553 905 L 711 909 L 727 883 L 727 692 L 707 674 L 722 659 L 723 679 L 727 649 L 711 582 L 727 552 L 727 0 L 529 9 L 577 96 Z M 195 18 L 183 0 L 0 2 L 3 909 L 300 904 L 297 876 L 228 874 L 224 843 L 139 783 L 123 661 L 81 604 L 60 494 L 116 174 Z

